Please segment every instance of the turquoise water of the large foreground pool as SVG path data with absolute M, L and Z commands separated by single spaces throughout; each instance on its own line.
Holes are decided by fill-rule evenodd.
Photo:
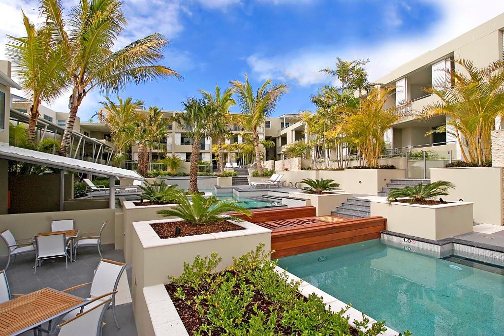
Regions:
M 285 257 L 279 266 L 397 331 L 504 334 L 504 277 L 498 274 L 380 240 Z

